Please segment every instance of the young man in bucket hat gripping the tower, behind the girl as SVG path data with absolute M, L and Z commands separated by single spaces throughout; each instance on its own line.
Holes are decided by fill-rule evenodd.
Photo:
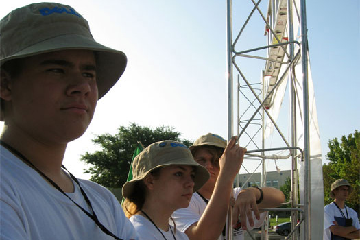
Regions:
M 235 197 L 232 208 L 235 240 L 243 239 L 243 230 L 246 228 L 261 226 L 266 212 L 260 213 L 260 208 L 276 207 L 285 201 L 283 192 L 272 187 L 233 189 L 233 181 L 246 152 L 245 148 L 235 144 L 236 140 L 236 136 L 232 137 L 227 144 L 221 136 L 208 133 L 200 136 L 189 147 L 194 160 L 206 167 L 210 173 L 208 182 L 193 194 L 189 207 L 173 213 L 176 226 L 185 232 L 190 240 L 224 239 L 231 195 Z M 234 146 L 239 147 L 241 154 L 230 154 Z M 241 223 L 237 221 L 239 218 Z M 245 222 L 246 224 L 243 224 Z

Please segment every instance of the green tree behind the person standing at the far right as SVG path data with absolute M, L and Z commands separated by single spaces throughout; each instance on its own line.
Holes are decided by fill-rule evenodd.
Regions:
M 344 178 L 354 187 L 354 191 L 346 201 L 346 205 L 359 214 L 360 196 L 360 133 L 355 130 L 348 137 L 342 136 L 341 142 L 337 138 L 328 141 L 330 151 L 326 154 L 328 165 L 323 165 L 324 176 L 324 204 L 333 201 L 330 197 L 331 183 Z

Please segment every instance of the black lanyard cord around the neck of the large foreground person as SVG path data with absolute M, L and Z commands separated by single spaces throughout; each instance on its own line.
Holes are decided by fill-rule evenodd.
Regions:
M 93 206 L 91 205 L 90 199 L 88 199 L 88 196 L 86 195 L 84 189 L 82 189 L 82 187 L 80 186 L 80 182 L 79 180 L 77 180 L 77 178 L 75 178 L 75 176 L 73 176 L 73 174 L 71 174 L 70 171 L 68 171 L 66 169 L 66 167 L 64 167 L 64 165 L 61 165 L 61 167 L 63 169 L 65 169 L 67 171 L 67 173 L 69 173 L 69 175 L 71 176 L 71 178 L 76 182 L 76 184 L 79 186 L 80 191 L 86 201 L 86 203 L 88 204 L 88 206 L 91 208 L 91 211 L 93 214 L 89 213 L 88 211 L 86 211 L 84 208 L 82 208 L 82 206 L 80 206 L 79 204 L 77 204 L 74 200 L 71 199 L 71 197 L 69 197 L 67 195 L 67 193 L 64 193 L 64 191 L 62 191 L 62 189 L 58 186 L 58 184 L 56 184 L 55 182 L 53 182 L 53 180 L 51 180 L 48 176 L 45 175 L 45 173 L 43 173 L 42 171 L 40 171 L 37 167 L 35 167 L 34 164 L 32 164 L 32 162 L 30 162 L 29 159 L 27 159 L 23 154 L 21 154 L 21 152 L 19 152 L 18 150 L 14 149 L 14 147 L 8 145 L 8 143 L 5 143 L 4 141 L 0 140 L 1 145 L 3 145 L 4 147 L 6 147 L 8 150 L 10 150 L 13 154 L 17 155 L 19 158 L 22 158 L 27 164 L 29 164 L 30 166 L 32 166 L 41 176 L 43 176 L 43 178 L 45 178 L 46 180 L 48 180 L 51 185 L 53 185 L 53 187 L 55 187 L 56 189 L 58 189 L 58 191 L 60 191 L 60 193 L 62 193 L 63 195 L 65 195 L 67 198 L 69 198 L 69 200 L 71 200 L 71 202 L 73 202 L 78 208 L 80 208 L 86 215 L 88 215 L 88 217 L 90 217 L 91 219 L 93 219 L 93 221 L 95 221 L 95 224 L 97 224 L 97 226 L 99 226 L 99 228 L 106 233 L 107 235 L 110 235 L 111 237 L 114 237 L 117 240 L 123 240 L 120 239 L 119 237 L 117 237 L 116 235 L 114 235 L 112 232 L 110 232 L 110 230 L 108 230 L 108 228 L 106 228 L 103 224 L 101 224 L 101 222 L 99 221 L 99 219 L 97 218 L 97 215 L 95 214 L 95 211 L 93 209 Z

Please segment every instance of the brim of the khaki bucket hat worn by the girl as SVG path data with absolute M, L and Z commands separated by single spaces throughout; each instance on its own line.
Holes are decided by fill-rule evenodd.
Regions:
M 123 189 L 122 189 L 123 197 L 125 197 L 125 198 L 130 197 L 130 195 L 132 195 L 132 191 L 134 191 L 135 183 L 143 180 L 149 172 L 153 171 L 154 169 L 157 169 L 160 167 L 166 167 L 166 166 L 170 166 L 170 165 L 195 167 L 195 178 L 194 178 L 194 188 L 193 188 L 193 193 L 195 193 L 195 191 L 201 189 L 201 187 L 208 181 L 208 179 L 210 178 L 210 173 L 208 173 L 208 170 L 206 170 L 205 167 L 202 167 L 202 165 L 193 164 L 193 163 L 189 163 L 189 164 L 178 163 L 180 161 L 181 161 L 181 159 L 177 159 L 173 163 L 169 162 L 169 163 L 166 163 L 163 165 L 158 165 L 158 166 L 150 169 L 149 171 L 146 171 L 141 176 L 138 176 L 136 179 L 130 180 L 129 182 L 125 182 L 125 184 L 123 185 Z

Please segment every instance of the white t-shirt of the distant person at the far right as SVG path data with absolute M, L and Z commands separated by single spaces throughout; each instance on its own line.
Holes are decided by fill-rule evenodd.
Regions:
M 357 218 L 357 212 L 353 210 L 352 208 L 348 208 L 347 206 L 346 210 L 348 211 L 348 216 L 346 215 L 346 210 L 341 209 L 341 211 L 344 213 L 344 216 L 347 218 L 352 218 L 352 226 L 355 226 L 357 230 L 360 229 L 359 225 L 359 219 Z M 324 206 L 324 240 L 330 240 L 331 239 L 331 230 L 330 227 L 333 226 L 333 221 L 335 221 L 335 217 L 343 217 L 341 215 L 339 208 L 332 202 L 331 204 L 328 204 Z

